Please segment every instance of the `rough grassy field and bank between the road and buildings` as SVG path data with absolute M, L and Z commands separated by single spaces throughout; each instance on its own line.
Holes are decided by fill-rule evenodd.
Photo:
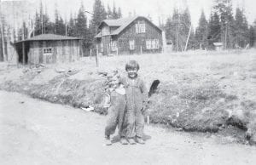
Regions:
M 217 132 L 227 124 L 246 129 L 256 123 L 252 115 L 256 111 L 255 52 L 100 57 L 99 68 L 94 58 L 86 57 L 73 64 L 47 65 L 40 73 L 2 64 L 0 88 L 77 107 L 94 105 L 102 112 L 106 78 L 97 72 L 118 70 L 125 75 L 125 63 L 137 60 L 139 75 L 148 88 L 155 79 L 160 80 L 160 87 L 150 99 L 151 122 L 189 131 Z

